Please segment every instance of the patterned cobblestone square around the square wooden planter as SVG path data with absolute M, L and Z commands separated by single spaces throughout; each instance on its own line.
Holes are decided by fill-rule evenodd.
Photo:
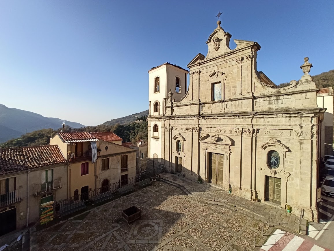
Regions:
M 128 224 L 121 212 L 132 205 L 142 210 L 142 217 Z M 243 251 L 258 250 L 272 231 L 238 211 L 201 203 L 178 187 L 157 181 L 36 236 L 40 251 Z

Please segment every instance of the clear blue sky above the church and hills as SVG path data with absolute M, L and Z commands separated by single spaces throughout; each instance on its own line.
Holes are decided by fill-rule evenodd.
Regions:
M 311 75 L 334 69 L 333 0 L 2 0 L 0 103 L 84 125 L 146 110 L 147 71 L 206 55 L 218 10 L 274 83 L 300 79 L 306 56 Z

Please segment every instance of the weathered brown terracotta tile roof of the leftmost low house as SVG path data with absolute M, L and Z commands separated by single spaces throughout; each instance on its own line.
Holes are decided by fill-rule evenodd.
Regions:
M 63 162 L 57 145 L 0 148 L 0 175 Z

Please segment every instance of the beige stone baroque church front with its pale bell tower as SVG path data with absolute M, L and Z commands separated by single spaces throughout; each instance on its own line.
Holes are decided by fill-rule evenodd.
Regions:
M 184 177 L 259 199 L 318 221 L 317 180 L 325 108 L 309 75 L 278 88 L 257 70 L 257 42 L 234 39 L 217 22 L 207 55 L 189 71 L 149 70 L 148 157 Z M 187 88 L 187 74 L 189 87 Z

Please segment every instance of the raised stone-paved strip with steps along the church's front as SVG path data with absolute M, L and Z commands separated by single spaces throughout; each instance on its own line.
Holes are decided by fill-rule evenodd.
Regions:
M 161 180 L 178 186 L 197 201 L 235 206 L 239 211 L 256 217 L 256 219 L 260 221 L 268 222 L 268 218 L 270 217 L 271 225 L 279 226 L 279 228 L 287 230 L 288 232 L 299 233 L 298 220 L 300 218 L 294 214 L 287 213 L 286 210 L 280 207 L 251 201 L 250 199 L 229 194 L 222 189 L 185 179 L 176 174 L 161 173 L 160 178 Z M 304 219 L 302 219 L 300 224 L 300 234 L 306 234 L 306 221 Z

